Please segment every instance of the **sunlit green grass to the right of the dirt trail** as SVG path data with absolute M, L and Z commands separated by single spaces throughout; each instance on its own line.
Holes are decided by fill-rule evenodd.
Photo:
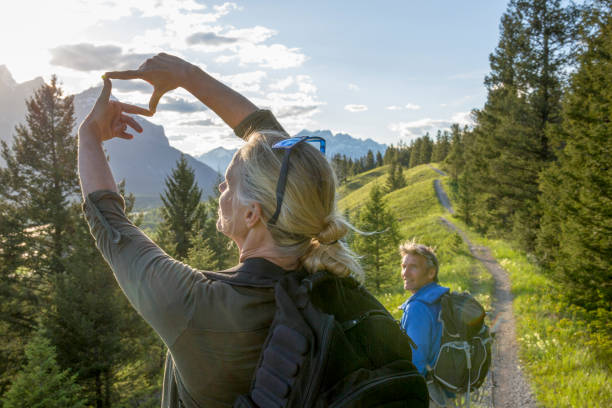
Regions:
M 452 221 L 473 242 L 489 247 L 509 273 L 519 357 L 538 404 L 612 407 L 612 313 L 589 314 L 564 301 L 562 287 L 525 253 Z

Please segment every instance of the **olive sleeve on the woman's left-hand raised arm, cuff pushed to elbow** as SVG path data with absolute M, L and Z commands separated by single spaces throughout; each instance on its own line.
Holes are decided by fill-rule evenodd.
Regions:
M 89 194 L 83 210 L 96 246 L 132 306 L 169 347 L 195 309 L 195 284 L 204 276 L 168 256 L 125 215 L 112 191 Z

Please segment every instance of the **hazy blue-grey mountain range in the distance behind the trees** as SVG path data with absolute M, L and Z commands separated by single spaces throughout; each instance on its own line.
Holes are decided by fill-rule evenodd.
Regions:
M 42 77 L 17 83 L 6 66 L 0 65 L 0 140 L 11 145 L 15 125 L 23 123 L 26 115 L 26 99 L 44 84 Z M 100 87 L 87 89 L 74 96 L 76 124 L 82 122 L 94 105 Z M 193 157 L 170 146 L 163 126 L 136 116 L 143 127 L 141 134 L 132 140 L 112 139 L 104 143 L 109 156 L 109 164 L 116 180 L 126 180 L 127 191 L 136 196 L 136 207 L 145 208 L 161 205 L 160 193 L 164 190 L 164 180 L 175 167 L 181 154 L 185 154 L 193 168 L 196 181 L 204 195 L 215 188 L 218 172 L 225 173 L 236 149 L 218 147 L 200 156 Z M 76 128 L 74 134 L 76 135 Z M 326 156 L 331 159 L 336 153 L 347 157 L 364 156 L 368 150 L 384 153 L 386 145 L 372 139 L 356 139 L 345 133 L 332 134 L 329 130 L 302 130 L 296 136 L 314 135 L 327 141 Z M 5 163 L 0 158 L 0 166 Z

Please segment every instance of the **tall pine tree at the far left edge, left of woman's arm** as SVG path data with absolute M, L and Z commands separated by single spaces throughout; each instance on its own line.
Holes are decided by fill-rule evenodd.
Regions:
M 26 101 L 26 123 L 0 144 L 0 391 L 19 368 L 46 307 L 54 276 L 65 270 L 80 210 L 72 97 L 55 76 Z

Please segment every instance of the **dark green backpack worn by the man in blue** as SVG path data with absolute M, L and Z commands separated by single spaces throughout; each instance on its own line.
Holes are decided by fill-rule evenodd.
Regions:
M 491 333 L 484 308 L 469 293 L 446 293 L 440 298 L 440 351 L 430 371 L 444 389 L 469 394 L 485 381 L 491 366 Z M 469 402 L 468 402 L 469 403 Z

